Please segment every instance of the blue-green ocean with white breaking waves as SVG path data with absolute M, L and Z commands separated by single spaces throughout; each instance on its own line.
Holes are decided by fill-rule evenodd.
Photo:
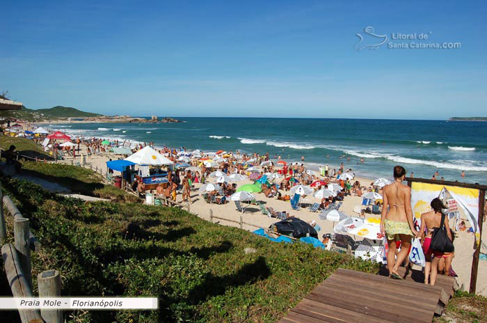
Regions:
M 317 170 L 344 163 L 357 175 L 408 175 L 487 184 L 487 123 L 438 120 L 311 118 L 179 118 L 184 123 L 69 123 L 49 125 L 75 136 L 153 141 L 157 147 L 269 152 Z M 364 162 L 360 159 L 363 158 Z M 461 178 L 465 171 L 465 178 Z

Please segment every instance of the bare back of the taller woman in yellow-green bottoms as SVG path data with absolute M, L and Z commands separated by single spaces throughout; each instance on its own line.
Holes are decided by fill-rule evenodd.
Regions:
M 411 189 L 407 185 L 399 182 L 386 185 L 383 189 L 383 208 L 389 210 L 385 219 L 391 221 L 407 222 L 406 211 L 410 210 Z

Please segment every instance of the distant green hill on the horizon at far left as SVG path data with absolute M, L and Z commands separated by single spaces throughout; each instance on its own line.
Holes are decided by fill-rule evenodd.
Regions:
M 88 118 L 103 116 L 99 113 L 81 111 L 72 107 L 52 107 L 51 109 L 29 109 L 24 106 L 18 111 L 1 111 L 0 117 L 26 121 L 53 120 L 60 118 Z

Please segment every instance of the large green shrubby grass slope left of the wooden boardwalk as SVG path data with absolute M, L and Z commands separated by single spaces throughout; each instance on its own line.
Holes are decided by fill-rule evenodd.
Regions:
M 71 166 L 65 173 L 51 167 L 58 166 L 37 171 L 86 180 Z M 58 269 L 64 296 L 159 298 L 159 310 L 74 311 L 67 322 L 276 322 L 338 267 L 378 270 L 372 262 L 308 244 L 277 244 L 177 208 L 87 203 L 24 180 L 1 182 L 44 246 L 33 253 L 34 278 Z M 11 216 L 7 224 L 12 233 Z M 248 247 L 256 252 L 246 254 Z M 8 294 L 4 277 L 0 290 Z

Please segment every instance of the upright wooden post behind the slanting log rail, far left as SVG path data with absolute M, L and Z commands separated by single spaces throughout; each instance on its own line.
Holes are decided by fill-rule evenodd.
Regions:
M 19 255 L 20 265 L 29 286 L 32 287 L 31 246 L 29 243 L 29 219 L 13 220 L 15 249 Z

